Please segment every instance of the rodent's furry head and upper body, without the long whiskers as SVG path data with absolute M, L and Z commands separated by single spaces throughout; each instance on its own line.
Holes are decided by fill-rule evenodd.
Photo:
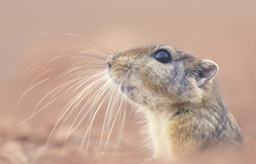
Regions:
M 213 61 L 171 46 L 148 45 L 113 54 L 107 65 L 111 81 L 145 113 L 157 160 L 243 146 L 216 85 Z

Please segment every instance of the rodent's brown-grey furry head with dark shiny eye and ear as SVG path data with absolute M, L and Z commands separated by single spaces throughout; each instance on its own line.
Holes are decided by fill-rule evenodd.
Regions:
M 199 59 L 166 45 L 147 45 L 112 54 L 108 75 L 133 102 L 147 108 L 202 101 L 206 84 L 218 71 L 213 61 Z

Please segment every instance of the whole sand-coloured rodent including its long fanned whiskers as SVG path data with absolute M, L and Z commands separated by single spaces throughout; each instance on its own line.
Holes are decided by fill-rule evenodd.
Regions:
M 106 113 L 99 146 L 104 152 L 115 123 L 121 119 L 117 134 L 120 141 L 126 111 L 122 104 L 126 104 L 124 102 L 128 99 L 146 117 L 144 131 L 149 135 L 148 147 L 152 148 L 153 160 L 174 161 L 216 150 L 235 152 L 243 147 L 243 135 L 225 106 L 214 79 L 218 72 L 216 63 L 166 45 L 137 46 L 124 52 L 117 49 L 110 52 L 102 44 L 93 44 L 110 56 L 66 55 L 64 57 L 77 58 L 78 61 L 58 76 L 33 85 L 38 77 L 53 69 L 43 72 L 29 88 L 31 90 L 49 79 L 50 83 L 60 77 L 65 79 L 62 85 L 42 98 L 31 115 L 36 115 L 60 98 L 68 100 L 47 143 L 53 132 L 75 113 L 65 143 L 84 120 L 87 124 L 80 150 L 86 141 L 88 148 L 93 120 L 104 107 Z M 59 57 L 63 55 L 52 58 L 47 64 Z M 88 63 L 87 57 L 97 58 L 97 61 Z M 99 63 L 99 59 L 104 63 Z M 45 101 L 47 104 L 39 108 Z

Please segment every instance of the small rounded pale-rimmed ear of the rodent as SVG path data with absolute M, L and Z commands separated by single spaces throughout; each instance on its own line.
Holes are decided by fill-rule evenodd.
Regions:
M 208 59 L 203 59 L 197 66 L 190 69 L 195 75 L 196 84 L 198 87 L 203 86 L 218 72 L 219 66 Z

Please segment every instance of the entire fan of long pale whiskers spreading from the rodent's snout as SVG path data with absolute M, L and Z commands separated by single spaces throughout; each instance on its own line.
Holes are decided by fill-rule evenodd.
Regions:
M 43 35 L 44 34 L 40 34 L 39 36 Z M 117 147 L 119 145 L 125 126 L 127 97 L 119 92 L 121 85 L 113 85 L 113 83 L 109 80 L 107 73 L 111 73 L 113 70 L 107 69 L 105 63 L 109 54 L 117 54 L 120 52 L 114 46 L 114 44 L 112 44 L 106 38 L 104 39 L 107 41 L 107 46 L 101 42 L 90 41 L 75 34 L 66 33 L 65 35 L 82 38 L 89 44 L 93 44 L 93 47 L 96 47 L 75 54 L 61 54 L 46 60 L 46 63 L 43 64 L 40 63 L 43 61 L 43 59 L 41 59 L 40 61 L 31 64 L 31 66 L 24 70 L 23 73 L 29 74 L 38 67 L 43 67 L 43 69 L 45 69 L 47 66 L 50 67 L 49 65 L 52 65 L 52 63 L 55 64 L 55 60 L 57 59 L 63 58 L 71 60 L 71 66 L 67 68 L 65 67 L 64 71 L 58 71 L 58 74 L 56 74 L 55 77 L 48 77 L 36 83 L 39 81 L 38 79 L 45 77 L 51 71 L 56 69 L 51 68 L 47 71 L 44 70 L 44 72 L 33 79 L 30 88 L 21 96 L 21 98 L 19 98 L 18 103 L 29 91 L 45 81 L 48 81 L 47 85 L 51 85 L 53 83 L 52 85 L 58 84 L 58 86 L 55 86 L 50 92 L 47 92 L 47 95 L 41 98 L 35 108 L 33 108 L 31 116 L 19 123 L 18 126 L 29 119 L 32 120 L 32 117 L 38 115 L 38 113 L 40 113 L 42 110 L 47 111 L 47 108 L 50 107 L 52 103 L 61 102 L 63 103 L 63 106 L 58 116 L 56 116 L 57 118 L 55 120 L 55 125 L 48 136 L 45 150 L 47 149 L 48 144 L 56 131 L 61 130 L 61 128 L 65 127 L 67 123 L 72 122 L 71 126 L 68 127 L 62 151 L 64 152 L 68 138 L 70 138 L 72 133 L 78 130 L 79 126 L 83 125 L 85 126 L 85 130 L 83 130 L 84 136 L 82 136 L 82 142 L 78 155 L 80 155 L 82 148 L 86 149 L 87 155 L 88 148 L 90 146 L 89 143 L 91 140 L 91 133 L 93 127 L 95 126 L 93 122 L 95 122 L 96 117 L 99 116 L 99 111 L 104 109 L 104 112 L 106 110 L 106 113 L 104 116 L 99 143 L 101 156 L 103 156 L 113 133 L 116 136 L 114 140 L 115 146 Z M 76 47 L 87 48 L 88 46 L 76 45 L 68 47 L 66 50 Z M 35 67 L 35 65 L 38 63 L 39 65 Z M 116 67 L 115 71 L 119 70 L 123 71 L 123 68 Z M 126 77 L 127 75 L 129 75 L 130 79 L 130 74 L 125 74 Z M 124 76 L 124 74 L 117 74 L 116 79 L 119 79 L 120 81 L 122 76 Z M 58 82 L 61 82 L 61 85 L 59 85 Z M 129 82 L 128 85 L 124 86 L 125 89 L 122 92 L 127 92 L 127 86 L 129 86 Z M 46 105 L 43 106 L 43 103 L 46 103 Z M 117 122 L 120 123 L 117 124 Z M 116 133 L 115 130 L 117 130 Z

